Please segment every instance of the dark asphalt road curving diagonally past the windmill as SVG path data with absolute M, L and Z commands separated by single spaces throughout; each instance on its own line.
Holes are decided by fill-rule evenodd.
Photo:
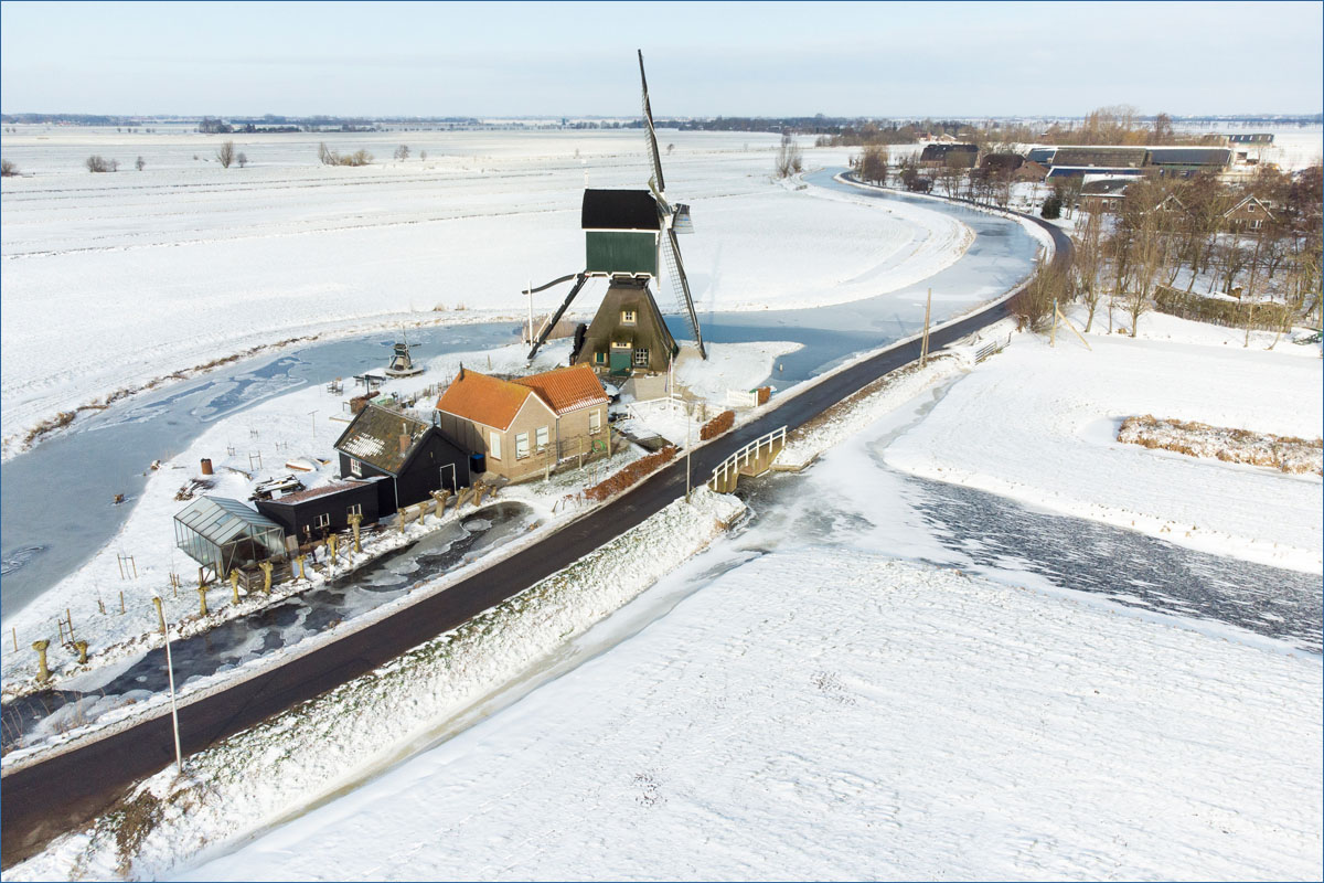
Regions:
M 1029 216 L 1026 216 L 1029 217 Z M 1055 262 L 1071 259 L 1071 242 L 1057 228 Z M 1005 303 L 976 312 L 929 336 L 939 349 L 1009 312 Z M 782 425 L 796 429 L 871 381 L 919 359 L 919 343 L 888 349 L 816 381 L 756 421 L 698 449 L 695 485 L 745 443 Z M 624 496 L 573 522 L 540 543 L 499 561 L 408 609 L 307 655 L 200 699 L 180 710 L 184 755 L 234 735 L 266 718 L 351 680 L 401 653 L 500 604 L 573 564 L 685 495 L 685 458 L 655 473 Z M 0 864 L 8 867 L 113 804 L 135 781 L 175 761 L 169 712 L 0 780 Z

